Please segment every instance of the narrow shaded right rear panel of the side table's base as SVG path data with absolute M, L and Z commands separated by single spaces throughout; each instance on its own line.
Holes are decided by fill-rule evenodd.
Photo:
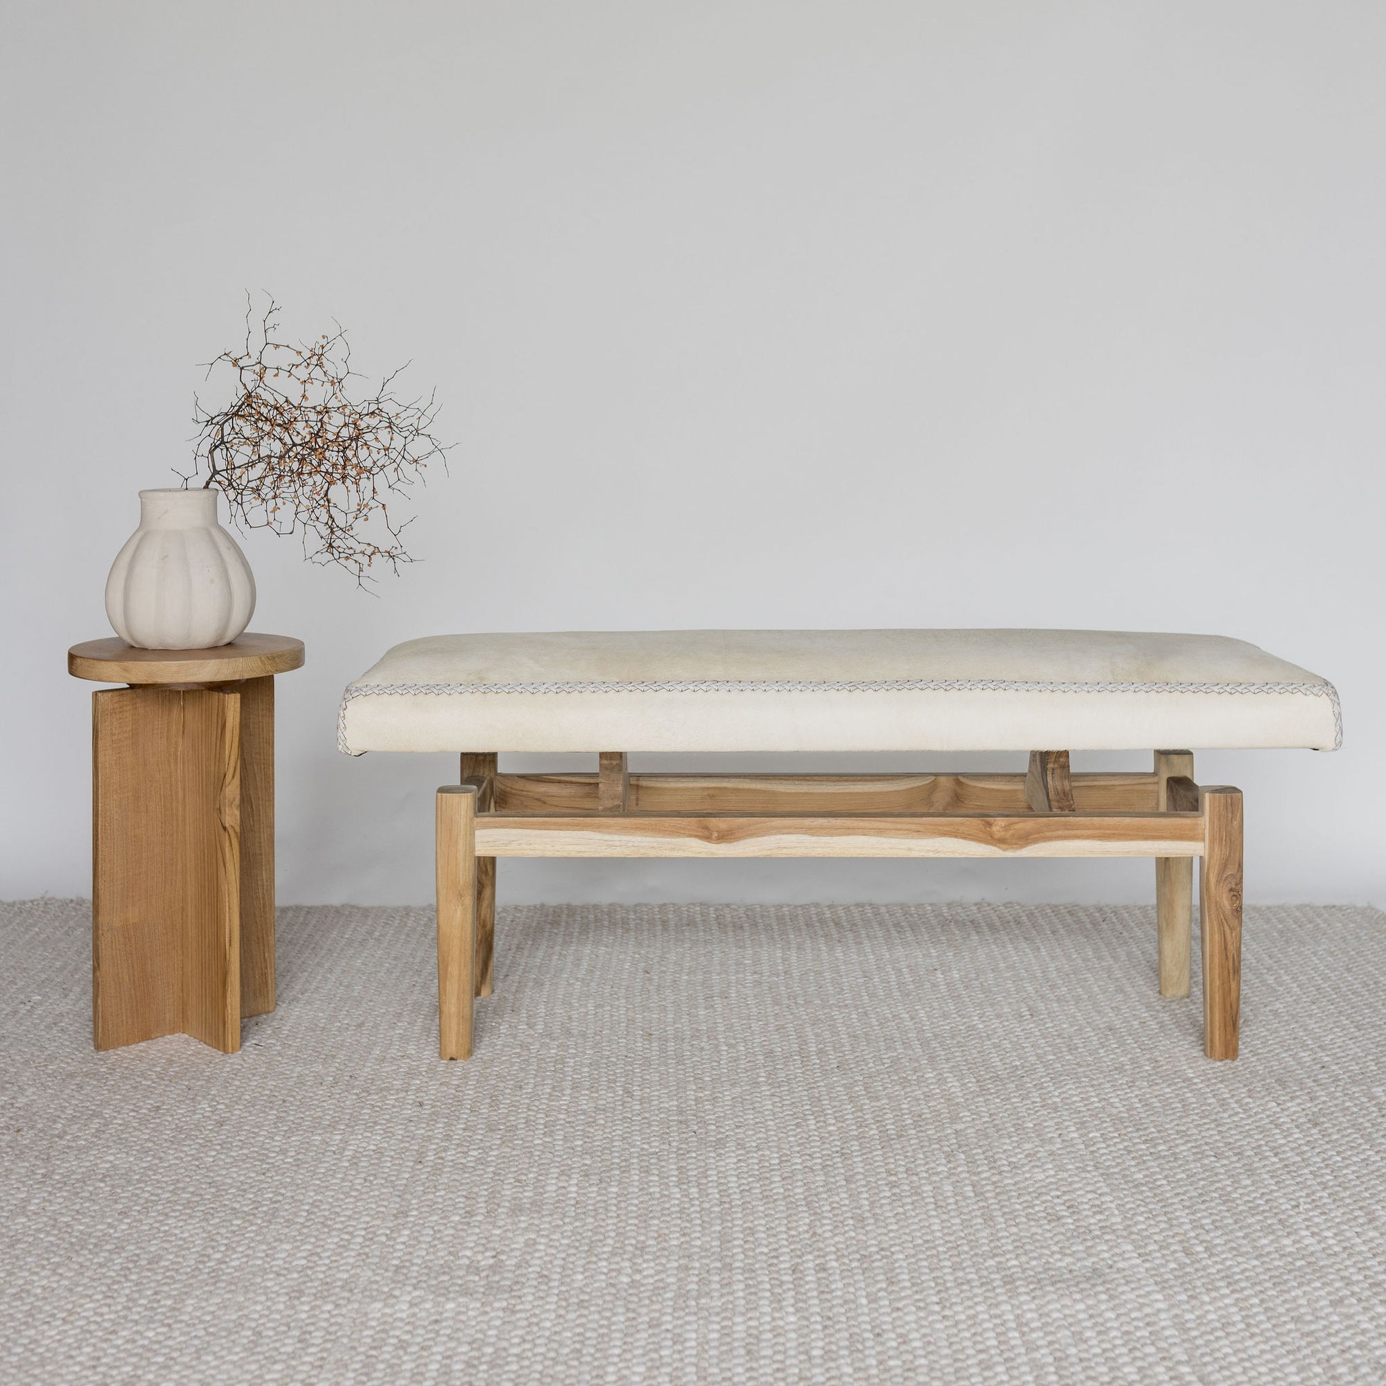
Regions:
M 241 696 L 241 1016 L 274 1009 L 274 679 Z

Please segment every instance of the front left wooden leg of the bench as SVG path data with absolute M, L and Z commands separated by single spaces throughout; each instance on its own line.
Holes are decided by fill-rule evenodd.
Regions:
M 477 789 L 444 784 L 437 800 L 438 1053 L 471 1058 L 477 977 Z

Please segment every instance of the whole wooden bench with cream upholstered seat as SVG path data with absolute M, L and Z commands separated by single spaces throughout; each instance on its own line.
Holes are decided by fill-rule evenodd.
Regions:
M 1253 644 L 1113 631 L 445 635 L 349 685 L 338 744 L 459 751 L 437 798 L 439 1052 L 491 994 L 498 857 L 1152 857 L 1160 992 L 1189 992 L 1200 869 L 1204 1052 L 1235 1059 L 1242 796 L 1192 751 L 1335 750 L 1333 686 Z M 602 750 L 611 747 L 613 750 Z M 1071 750 L 1156 750 L 1074 775 Z M 499 751 L 595 751 L 502 775 Z M 629 751 L 1026 751 L 1013 775 L 631 775 Z

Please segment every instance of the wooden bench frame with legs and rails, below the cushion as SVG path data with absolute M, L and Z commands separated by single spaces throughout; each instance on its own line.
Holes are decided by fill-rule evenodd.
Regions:
M 1189 994 L 1193 858 L 1203 1052 L 1235 1059 L 1242 974 L 1242 791 L 1195 784 L 1189 751 L 1149 773 L 1071 775 L 1033 751 L 1024 775 L 500 775 L 463 754 L 437 798 L 438 1015 L 444 1059 L 471 1055 L 492 990 L 498 857 L 1153 857 L 1160 995 Z

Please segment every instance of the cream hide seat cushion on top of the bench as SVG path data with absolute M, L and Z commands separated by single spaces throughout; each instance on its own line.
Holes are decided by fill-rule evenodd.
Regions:
M 567 631 L 396 644 L 342 699 L 362 751 L 1028 751 L 1340 742 L 1315 674 L 1214 635 Z

